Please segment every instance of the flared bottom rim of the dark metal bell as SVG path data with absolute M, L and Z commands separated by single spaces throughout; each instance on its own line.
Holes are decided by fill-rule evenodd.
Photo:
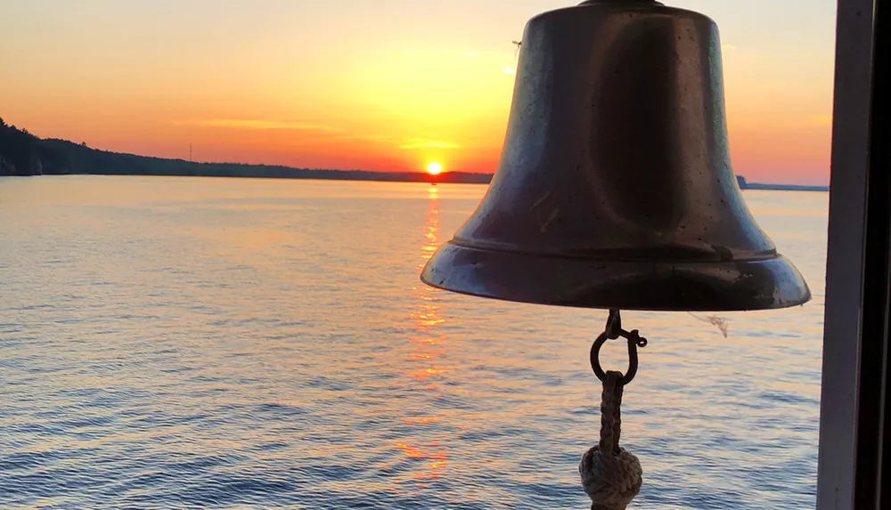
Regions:
M 539 281 L 523 278 L 529 275 Z M 544 281 L 542 275 L 555 278 Z M 781 254 L 730 262 L 653 263 L 495 252 L 449 241 L 420 276 L 430 287 L 462 295 L 596 310 L 756 312 L 792 308 L 813 298 L 800 271 Z M 685 285 L 709 296 L 684 295 Z M 635 290 L 621 292 L 623 286 Z M 635 292 L 649 296 L 643 299 Z

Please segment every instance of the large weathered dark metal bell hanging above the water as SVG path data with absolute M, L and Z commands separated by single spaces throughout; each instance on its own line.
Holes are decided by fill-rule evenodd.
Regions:
M 590 308 L 804 304 L 733 174 L 722 74 L 697 12 L 592 0 L 529 20 L 500 166 L 421 279 Z

